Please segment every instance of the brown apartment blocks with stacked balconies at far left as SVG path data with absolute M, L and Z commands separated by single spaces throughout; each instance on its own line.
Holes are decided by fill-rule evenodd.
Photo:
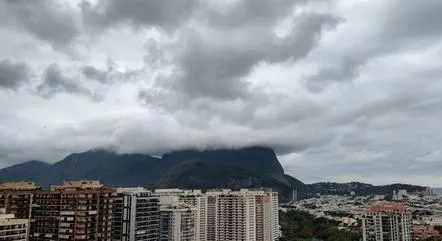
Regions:
M 50 189 L 8 183 L 0 186 L 0 205 L 30 220 L 31 241 L 110 241 L 114 192 L 98 181 L 67 181 Z

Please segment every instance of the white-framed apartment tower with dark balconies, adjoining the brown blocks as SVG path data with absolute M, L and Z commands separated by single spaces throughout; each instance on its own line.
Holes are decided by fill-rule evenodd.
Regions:
M 113 241 L 157 241 L 160 226 L 159 198 L 138 188 L 118 188 L 114 201 Z

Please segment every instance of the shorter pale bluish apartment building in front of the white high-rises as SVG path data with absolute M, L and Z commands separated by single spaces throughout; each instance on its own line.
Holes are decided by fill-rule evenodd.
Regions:
M 185 203 L 160 208 L 160 241 L 195 241 L 196 208 Z

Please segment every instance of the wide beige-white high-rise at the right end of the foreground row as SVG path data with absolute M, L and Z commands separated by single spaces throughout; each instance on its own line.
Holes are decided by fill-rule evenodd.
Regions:
M 276 241 L 278 195 L 264 190 L 208 192 L 209 241 Z

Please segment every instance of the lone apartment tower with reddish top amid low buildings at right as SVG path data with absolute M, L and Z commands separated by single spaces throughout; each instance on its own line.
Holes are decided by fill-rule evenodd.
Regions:
M 366 209 L 363 241 L 411 241 L 411 214 L 403 203 L 379 203 Z

